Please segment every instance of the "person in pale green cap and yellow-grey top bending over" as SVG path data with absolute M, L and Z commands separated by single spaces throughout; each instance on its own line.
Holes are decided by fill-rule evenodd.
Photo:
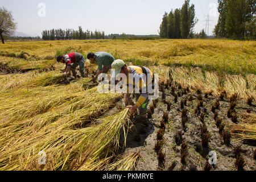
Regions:
M 123 73 L 126 75 L 126 82 L 127 82 L 127 93 L 125 94 L 125 104 L 128 105 L 130 101 L 131 94 L 129 93 L 130 88 L 138 88 L 139 93 L 135 93 L 137 102 L 133 106 L 127 106 L 131 112 L 139 109 L 139 114 L 142 118 L 147 117 L 147 105 L 150 101 L 148 96 L 152 93 L 148 93 L 147 86 L 151 86 L 154 90 L 154 74 L 150 71 L 150 69 L 146 67 L 139 67 L 139 66 L 130 66 L 127 65 L 122 60 L 115 60 L 112 64 L 112 69 L 115 69 L 114 77 L 118 78 L 119 73 Z M 148 75 L 147 78 L 143 78 L 143 73 Z M 130 75 L 129 75 L 130 74 Z M 133 76 L 133 77 L 131 77 Z M 135 78 L 135 79 L 133 79 Z M 148 79 L 150 78 L 150 79 Z M 136 82 L 137 81 L 137 82 Z M 147 89 L 146 92 L 143 92 L 144 89 Z

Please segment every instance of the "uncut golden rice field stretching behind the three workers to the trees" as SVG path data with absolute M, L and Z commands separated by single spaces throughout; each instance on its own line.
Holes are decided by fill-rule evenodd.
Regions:
M 256 44 L 254 41 L 67 40 L 10 42 L 6 45 L 0 45 L 0 47 L 4 52 L 19 55 L 23 51 L 27 52 L 30 57 L 34 55 L 41 59 L 72 51 L 81 52 L 85 57 L 88 52 L 106 51 L 112 53 L 116 59 L 123 59 L 127 63 L 152 65 L 153 67 L 150 68 L 155 73 L 160 73 L 160 81 L 167 81 L 168 67 L 154 67 L 154 65 L 176 65 L 179 67 L 172 67 L 172 76 L 174 81 L 183 86 L 206 92 L 213 90 L 215 95 L 220 94 L 221 90 L 225 90 L 228 96 L 238 92 L 239 97 L 245 100 L 247 97 L 255 98 L 256 96 Z M 27 59 L 30 59 L 29 56 Z M 1 60 L 5 62 L 5 59 L 6 57 L 2 57 L 0 63 Z M 8 59 L 13 60 L 14 58 Z M 16 62 L 20 62 L 18 67 L 27 67 L 27 62 L 34 63 L 34 67 L 40 67 L 36 61 L 20 59 L 11 61 L 11 63 L 18 65 Z M 229 73 L 242 74 L 243 76 L 229 75 Z M 5 86 L 4 88 L 12 88 L 12 86 Z

